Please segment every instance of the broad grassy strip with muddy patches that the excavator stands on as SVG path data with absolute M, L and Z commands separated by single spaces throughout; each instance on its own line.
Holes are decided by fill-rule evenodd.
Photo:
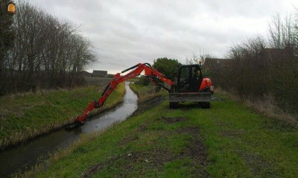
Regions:
M 259 115 L 224 95 L 219 98 L 205 110 L 187 103 L 173 110 L 164 101 L 104 133 L 85 135 L 34 174 L 296 177 L 297 129 Z

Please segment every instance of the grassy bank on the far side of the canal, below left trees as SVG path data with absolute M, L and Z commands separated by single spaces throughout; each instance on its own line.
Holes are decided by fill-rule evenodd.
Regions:
M 103 87 L 86 86 L 72 90 L 52 90 L 40 93 L 15 94 L 0 97 L 0 148 L 26 141 L 71 123 L 98 99 Z M 121 103 L 125 93 L 120 84 L 97 114 Z

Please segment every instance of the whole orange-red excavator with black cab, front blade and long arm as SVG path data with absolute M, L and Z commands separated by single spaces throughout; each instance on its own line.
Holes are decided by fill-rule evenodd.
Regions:
M 120 75 L 129 70 L 125 75 Z M 145 71 L 144 76 L 149 78 L 155 85 L 166 89 L 169 92 L 169 107 L 178 108 L 179 102 L 197 102 L 202 108 L 210 108 L 211 95 L 214 92 L 214 87 L 209 78 L 202 77 L 201 65 L 181 65 L 178 68 L 177 82 L 175 83 L 171 77 L 164 76 L 156 69 L 152 68 L 149 63 L 138 63 L 120 73 L 115 74 L 113 79 L 108 83 L 98 101 L 92 101 L 89 106 L 78 116 L 74 123 L 66 129 L 72 129 L 84 123 L 87 115 L 94 108 L 101 108 L 116 86 L 124 81 L 141 75 Z M 166 87 L 164 83 L 171 87 Z

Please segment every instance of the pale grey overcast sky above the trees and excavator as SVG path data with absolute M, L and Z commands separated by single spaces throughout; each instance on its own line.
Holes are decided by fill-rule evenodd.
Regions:
M 298 0 L 29 0 L 52 15 L 82 25 L 98 62 L 93 69 L 116 73 L 159 57 L 200 49 L 224 58 L 232 43 L 266 35 L 270 17 L 298 7 Z

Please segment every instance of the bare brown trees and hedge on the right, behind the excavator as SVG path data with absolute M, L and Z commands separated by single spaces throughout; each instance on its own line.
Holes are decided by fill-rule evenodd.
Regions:
M 272 18 L 268 38 L 256 36 L 234 45 L 216 84 L 240 96 L 274 97 L 286 111 L 298 112 L 298 11 L 284 20 Z

